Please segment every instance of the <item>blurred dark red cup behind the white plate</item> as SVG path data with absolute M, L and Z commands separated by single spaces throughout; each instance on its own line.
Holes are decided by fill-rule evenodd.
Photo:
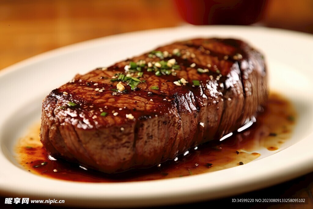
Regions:
M 181 17 L 194 25 L 249 25 L 263 18 L 266 0 L 174 0 Z

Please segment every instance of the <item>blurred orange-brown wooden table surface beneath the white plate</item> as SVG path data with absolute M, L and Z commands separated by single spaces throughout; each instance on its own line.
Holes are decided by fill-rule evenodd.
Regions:
M 313 33 L 313 1 L 293 3 L 294 1 L 270 1 L 263 24 Z M 2 0 L 0 69 L 33 55 L 88 39 L 181 24 L 184 23 L 174 4 L 167 0 Z M 313 173 L 310 173 L 280 185 L 231 198 L 306 196 L 309 197 L 309 205 L 272 204 L 266 207 L 313 208 L 312 179 Z M 230 204 L 230 201 L 230 198 L 225 198 L 194 203 L 192 207 L 207 207 L 214 203 Z M 236 205 L 233 203 L 230 206 Z M 265 207 L 257 204 L 240 206 Z M 40 205 L 33 207 L 39 208 Z

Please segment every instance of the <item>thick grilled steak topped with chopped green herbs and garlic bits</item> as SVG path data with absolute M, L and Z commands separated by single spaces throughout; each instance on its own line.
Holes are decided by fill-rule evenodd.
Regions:
M 241 127 L 267 99 L 265 75 L 262 55 L 240 40 L 162 46 L 54 89 L 41 142 L 106 173 L 150 167 Z

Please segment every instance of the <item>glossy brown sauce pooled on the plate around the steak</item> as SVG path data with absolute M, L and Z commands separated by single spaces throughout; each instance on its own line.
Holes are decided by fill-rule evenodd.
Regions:
M 249 128 L 234 133 L 222 142 L 211 141 L 189 149 L 174 160 L 168 160 L 149 169 L 136 169 L 117 174 L 105 174 L 85 170 L 78 164 L 65 160 L 51 160 L 42 148 L 39 137 L 40 124 L 30 128 L 16 146 L 20 165 L 37 175 L 54 179 L 81 182 L 124 182 L 156 180 L 223 170 L 247 164 L 260 154 L 254 150 L 275 151 L 290 138 L 296 113 L 292 104 L 278 94 L 272 93 L 257 120 Z

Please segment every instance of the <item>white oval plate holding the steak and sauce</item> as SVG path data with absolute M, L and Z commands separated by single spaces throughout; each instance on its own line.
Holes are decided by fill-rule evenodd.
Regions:
M 111 65 L 158 45 L 195 37 L 233 37 L 261 50 L 270 88 L 298 111 L 293 137 L 276 154 L 246 165 L 182 178 L 127 183 L 78 183 L 40 177 L 21 169 L 13 147 L 38 121 L 42 99 L 76 73 Z M 313 170 L 313 36 L 279 29 L 183 26 L 94 39 L 35 56 L 0 71 L 0 193 L 6 197 L 64 199 L 72 206 L 146 206 L 230 196 L 278 184 Z M 272 152 L 273 153 L 273 152 Z

